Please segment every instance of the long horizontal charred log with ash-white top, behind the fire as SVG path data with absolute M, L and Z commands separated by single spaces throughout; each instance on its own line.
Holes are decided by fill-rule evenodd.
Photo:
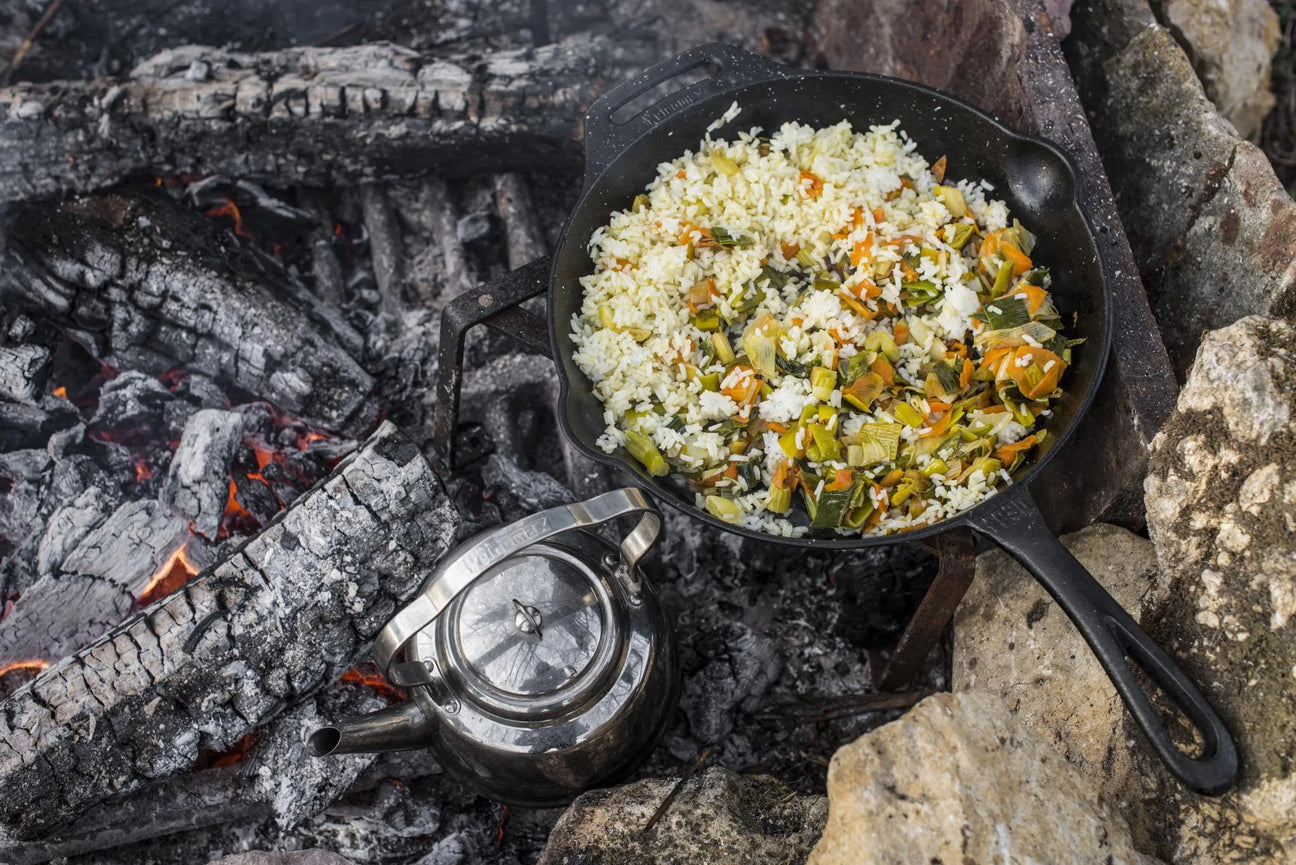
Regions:
M 429 56 L 380 43 L 244 54 L 188 45 L 124 80 L 0 89 L 0 200 L 137 172 L 276 185 L 577 162 L 608 44 Z

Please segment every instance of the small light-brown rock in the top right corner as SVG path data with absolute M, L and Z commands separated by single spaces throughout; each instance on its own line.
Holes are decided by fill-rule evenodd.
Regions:
M 1156 0 L 1169 27 L 1216 104 L 1247 139 L 1274 106 L 1269 66 L 1278 51 L 1278 13 L 1265 0 Z

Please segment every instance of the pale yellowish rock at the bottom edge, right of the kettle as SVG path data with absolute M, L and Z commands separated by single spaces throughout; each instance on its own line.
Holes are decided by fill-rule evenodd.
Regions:
M 988 694 L 937 694 L 840 748 L 810 865 L 1150 862 L 1086 773 Z

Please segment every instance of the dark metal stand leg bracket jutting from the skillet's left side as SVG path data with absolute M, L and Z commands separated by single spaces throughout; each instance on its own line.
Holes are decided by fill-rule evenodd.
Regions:
M 441 345 L 437 349 L 437 407 L 433 410 L 433 440 L 441 442 L 437 468 L 455 471 L 459 431 L 459 389 L 463 384 L 464 342 L 478 324 L 513 337 L 526 348 L 553 357 L 550 326 L 521 307 L 522 301 L 550 285 L 553 259 L 546 255 L 512 270 L 494 283 L 469 289 L 446 305 L 441 314 Z

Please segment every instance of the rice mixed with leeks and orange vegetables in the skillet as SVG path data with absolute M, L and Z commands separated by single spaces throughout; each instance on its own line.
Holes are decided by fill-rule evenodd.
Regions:
M 784 536 L 903 532 L 1008 482 L 1080 340 L 1032 233 L 945 166 L 898 122 L 709 131 L 658 166 L 594 233 L 572 322 L 599 445 Z

